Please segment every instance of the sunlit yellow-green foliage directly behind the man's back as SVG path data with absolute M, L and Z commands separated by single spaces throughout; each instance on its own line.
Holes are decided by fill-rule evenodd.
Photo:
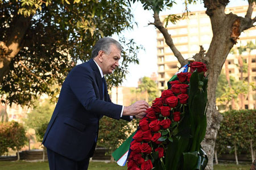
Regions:
M 54 108 L 55 105 L 51 104 L 48 99 L 37 101 L 33 111 L 28 113 L 27 118 L 24 119 L 26 129 L 35 129 L 39 141 L 42 141 L 44 129 L 51 119 Z

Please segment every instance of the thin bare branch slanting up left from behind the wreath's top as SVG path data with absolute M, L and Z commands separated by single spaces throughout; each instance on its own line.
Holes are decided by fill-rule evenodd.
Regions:
M 174 53 L 174 56 L 177 58 L 181 66 L 184 66 L 186 63 L 185 59 L 177 50 L 177 48 L 174 45 L 174 42 L 172 41 L 171 35 L 168 33 L 167 29 L 163 27 L 163 23 L 160 21 L 159 15 L 156 11 L 154 11 L 154 23 L 150 23 L 152 25 L 155 25 L 156 28 L 159 29 L 159 31 L 163 34 L 164 39 L 166 40 L 166 44 L 170 46 L 172 52 Z

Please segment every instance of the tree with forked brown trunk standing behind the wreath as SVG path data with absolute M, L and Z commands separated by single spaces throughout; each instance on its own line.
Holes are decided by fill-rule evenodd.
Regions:
M 182 54 L 175 47 L 172 41 L 171 35 L 168 33 L 167 28 L 164 27 L 163 22 L 159 18 L 159 11 L 162 11 L 164 7 L 172 7 L 175 1 L 166 0 L 130 0 L 131 2 L 141 1 L 144 10 L 154 11 L 154 22 L 149 23 L 154 25 L 163 34 L 166 44 L 170 46 L 174 56 L 180 62 L 181 66 L 187 64 L 187 60 L 184 59 Z M 202 2 L 204 7 L 207 8 L 205 13 L 209 16 L 212 24 L 213 38 L 210 43 L 207 53 L 201 46 L 199 53 L 195 54 L 193 58 L 196 61 L 201 61 L 207 64 L 208 67 L 208 110 L 207 110 L 207 133 L 204 141 L 202 142 L 204 150 L 207 152 L 209 163 L 207 169 L 213 169 L 213 155 L 214 155 L 214 143 L 216 141 L 217 131 L 220 128 L 220 122 L 222 116 L 216 110 L 216 87 L 218 76 L 221 73 L 222 66 L 228 56 L 230 49 L 237 43 L 242 31 L 253 27 L 256 22 L 255 16 L 252 19 L 253 8 L 255 6 L 255 0 L 249 0 L 249 6 L 245 17 L 238 16 L 233 13 L 225 14 L 225 7 L 230 2 L 229 0 L 185 0 L 184 5 L 187 10 L 188 3 Z M 166 19 L 170 22 L 181 18 L 177 15 L 169 15 Z

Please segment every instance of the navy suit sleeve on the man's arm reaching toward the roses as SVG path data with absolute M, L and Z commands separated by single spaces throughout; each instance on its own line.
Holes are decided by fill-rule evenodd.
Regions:
M 69 73 L 69 86 L 86 111 L 101 116 L 119 119 L 122 105 L 100 100 L 96 97 L 98 90 L 94 71 L 84 66 L 77 66 Z

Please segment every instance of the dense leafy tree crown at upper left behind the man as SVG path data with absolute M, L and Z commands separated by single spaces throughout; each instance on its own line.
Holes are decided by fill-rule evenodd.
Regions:
M 114 10 L 112 10 L 114 9 Z M 46 93 L 57 96 L 69 70 L 88 61 L 100 37 L 132 28 L 123 0 L 0 1 L 0 88 L 6 100 L 30 104 Z M 119 40 L 129 49 L 109 82 L 120 84 L 129 63 L 138 63 L 134 41 Z

